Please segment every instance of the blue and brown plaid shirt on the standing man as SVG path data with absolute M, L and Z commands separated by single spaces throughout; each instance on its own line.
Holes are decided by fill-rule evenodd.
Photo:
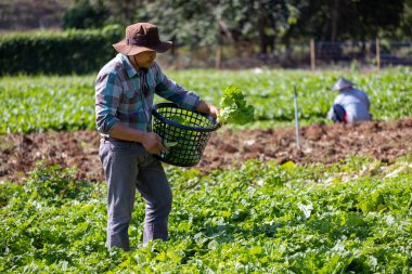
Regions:
M 95 81 L 95 122 L 110 136 L 112 127 L 126 126 L 151 131 L 154 93 L 183 108 L 195 110 L 199 97 L 167 78 L 155 62 L 145 73 L 133 68 L 126 55 L 117 54 L 100 71 Z

